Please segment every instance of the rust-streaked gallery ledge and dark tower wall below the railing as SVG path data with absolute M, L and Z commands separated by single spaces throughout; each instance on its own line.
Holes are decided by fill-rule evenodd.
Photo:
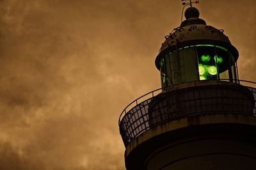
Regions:
M 256 118 L 194 116 L 154 127 L 125 151 L 130 169 L 246 169 L 256 166 Z

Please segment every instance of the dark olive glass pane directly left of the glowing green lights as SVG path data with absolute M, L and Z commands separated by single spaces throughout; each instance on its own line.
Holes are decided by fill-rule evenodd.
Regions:
M 184 48 L 179 51 L 179 55 L 182 82 L 198 80 L 198 68 L 195 47 Z

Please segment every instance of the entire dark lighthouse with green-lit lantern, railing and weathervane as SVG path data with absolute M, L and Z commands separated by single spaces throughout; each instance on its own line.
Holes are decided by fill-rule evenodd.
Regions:
M 188 4 L 186 20 L 156 57 L 162 87 L 120 116 L 125 167 L 254 170 L 256 84 L 239 80 L 239 54 L 223 29 L 208 26 Z

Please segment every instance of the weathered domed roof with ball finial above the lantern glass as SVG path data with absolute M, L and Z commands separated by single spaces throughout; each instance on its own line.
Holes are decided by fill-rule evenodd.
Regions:
M 238 58 L 236 47 L 224 35 L 223 29 L 207 26 L 204 20 L 198 18 L 199 12 L 196 8 L 188 8 L 185 12 L 185 17 L 186 20 L 180 24 L 180 27 L 175 28 L 173 33 L 165 36 L 165 41 L 162 43 L 156 58 L 156 64 L 160 58 L 173 50 L 198 44 L 221 45 L 230 50 L 235 59 Z

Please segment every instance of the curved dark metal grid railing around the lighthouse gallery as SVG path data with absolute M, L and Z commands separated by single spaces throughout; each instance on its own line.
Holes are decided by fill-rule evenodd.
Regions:
M 176 84 L 156 89 L 134 100 L 125 107 L 119 118 L 120 134 L 125 146 L 152 127 L 197 114 L 232 112 L 255 116 L 256 83 L 240 80 L 239 84 L 246 86 L 239 86 L 236 83 L 223 85 L 223 81 L 227 80 L 215 81 L 213 86 L 202 85 L 204 81 Z M 166 91 L 186 84 L 190 87 Z

